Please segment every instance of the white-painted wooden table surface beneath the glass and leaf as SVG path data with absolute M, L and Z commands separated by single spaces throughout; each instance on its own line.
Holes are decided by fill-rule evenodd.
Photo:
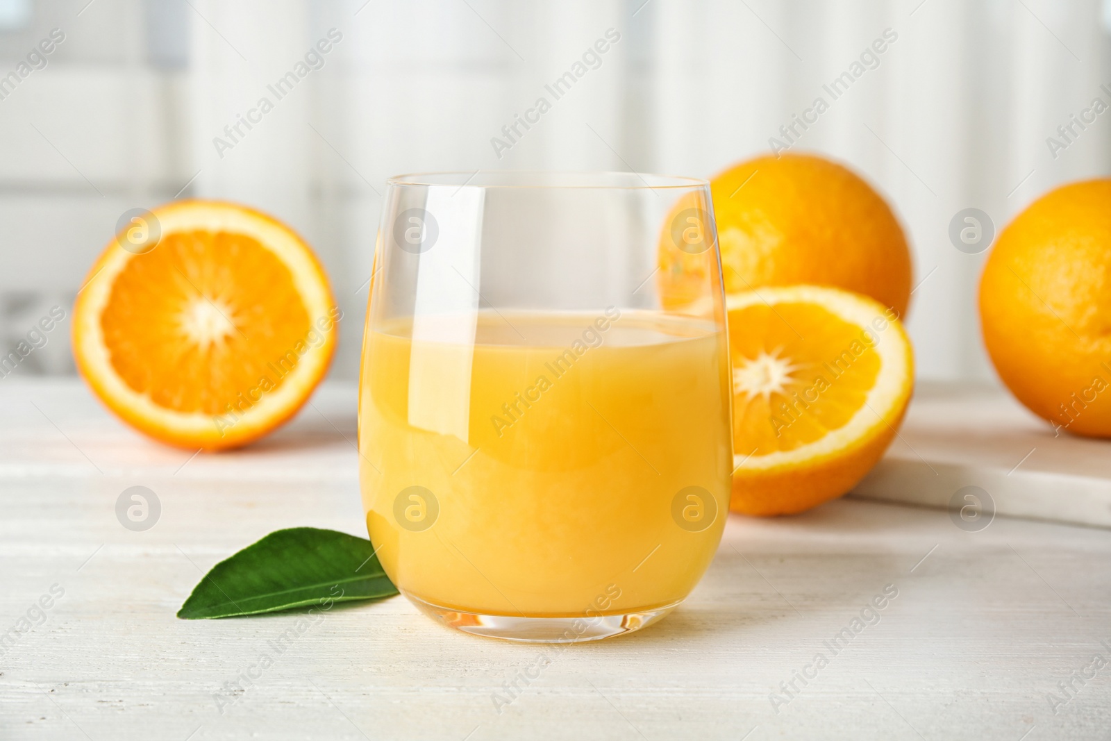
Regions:
M 38 619 L 52 585 L 64 590 L 41 624 L 0 647 L 0 738 L 1111 733 L 1111 665 L 1073 679 L 1069 695 L 1059 687 L 1090 673 L 1093 654 L 1111 662 L 1107 530 L 998 517 L 967 532 L 943 510 L 861 500 L 732 517 L 689 601 L 641 633 L 512 644 L 451 632 L 394 598 L 337 607 L 229 694 L 299 617 L 174 612 L 203 571 L 271 530 L 366 535 L 354 408 L 353 387 L 326 385 L 269 440 L 189 460 L 109 418 L 77 381 L 0 380 L 0 631 Z M 150 530 L 117 520 L 131 485 L 160 499 Z M 898 597 L 879 622 L 834 654 L 828 642 L 888 584 Z M 550 665 L 499 713 L 494 693 L 541 653 Z M 793 697 L 773 705 L 792 679 Z

